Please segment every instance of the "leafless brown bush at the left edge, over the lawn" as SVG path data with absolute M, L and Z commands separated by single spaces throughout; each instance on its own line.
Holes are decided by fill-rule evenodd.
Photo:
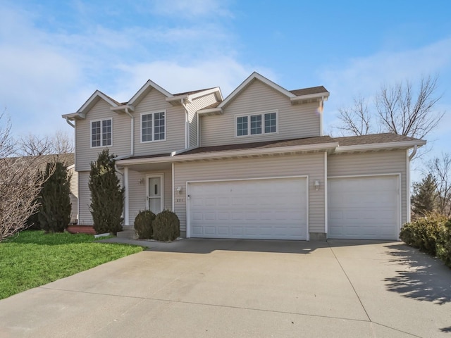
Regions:
M 0 115 L 0 242 L 27 227 L 27 219 L 37 212 L 37 196 L 44 177 L 37 165 L 40 156 L 15 156 L 11 123 Z

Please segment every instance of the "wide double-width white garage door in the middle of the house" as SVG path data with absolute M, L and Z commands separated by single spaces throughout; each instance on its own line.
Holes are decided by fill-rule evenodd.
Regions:
M 307 239 L 307 179 L 188 184 L 190 237 Z

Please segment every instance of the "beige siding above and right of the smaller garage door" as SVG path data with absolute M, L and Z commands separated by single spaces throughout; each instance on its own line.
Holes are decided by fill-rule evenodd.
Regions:
M 328 156 L 328 176 L 401 174 L 402 223 L 407 222 L 407 154 L 400 151 L 378 151 Z

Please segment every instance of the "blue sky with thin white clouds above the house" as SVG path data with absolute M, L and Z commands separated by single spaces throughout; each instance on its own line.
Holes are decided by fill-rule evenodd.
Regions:
M 0 106 L 16 136 L 72 132 L 61 114 L 96 89 L 128 101 L 151 79 L 226 96 L 254 70 L 286 89 L 325 86 L 328 134 L 353 96 L 431 74 L 447 113 L 428 142 L 451 151 L 448 0 L 3 0 L 0 13 Z

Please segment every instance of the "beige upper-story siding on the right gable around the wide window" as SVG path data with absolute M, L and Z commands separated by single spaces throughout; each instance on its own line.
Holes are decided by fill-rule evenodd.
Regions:
M 278 110 L 278 133 L 235 137 L 235 115 Z M 319 104 L 292 105 L 290 99 L 266 84 L 254 80 L 221 115 L 202 116 L 202 146 L 240 144 L 273 139 L 319 136 Z

